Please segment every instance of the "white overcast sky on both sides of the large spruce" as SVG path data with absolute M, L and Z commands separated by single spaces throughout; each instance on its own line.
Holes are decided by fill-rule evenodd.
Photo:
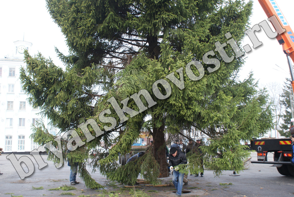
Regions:
M 294 17 L 291 15 L 294 1 L 276 0 L 276 2 L 294 29 Z M 2 0 L 0 1 L 0 19 L 2 30 L 0 31 L 0 58 L 11 53 L 14 41 L 24 39 L 33 44 L 31 54 L 39 51 L 45 57 L 51 57 L 56 65 L 61 65 L 56 57 L 54 46 L 61 52 L 67 53 L 65 37 L 47 12 L 45 0 Z M 254 0 L 250 27 L 266 19 L 260 4 Z M 285 77 L 290 77 L 290 74 L 282 46 L 276 39 L 269 39 L 263 30 L 258 32 L 257 36 L 263 44 L 246 54 L 247 60 L 240 73 L 241 78 L 244 79 L 250 71 L 253 71 L 254 78 L 259 80 L 260 85 L 271 82 L 283 84 Z M 248 38 L 245 38 L 244 43 L 252 46 Z

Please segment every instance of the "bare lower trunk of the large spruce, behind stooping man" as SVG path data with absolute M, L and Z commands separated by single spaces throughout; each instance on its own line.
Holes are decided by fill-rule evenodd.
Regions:
M 168 164 L 166 161 L 166 142 L 164 140 L 164 124 L 153 127 L 153 154 L 159 164 L 159 178 L 168 177 Z

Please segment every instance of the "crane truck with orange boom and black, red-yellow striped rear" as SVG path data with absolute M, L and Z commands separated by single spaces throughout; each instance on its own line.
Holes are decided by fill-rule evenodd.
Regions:
M 288 25 L 282 12 L 280 11 L 275 0 L 258 0 L 265 14 L 269 17 L 275 15 L 280 25 L 285 31 L 276 39 L 282 45 L 283 51 L 287 56 L 288 66 L 291 75 L 291 86 L 294 91 L 294 75 L 291 59 L 294 62 L 294 35 Z M 293 92 L 292 92 L 293 94 Z M 293 119 L 293 117 L 292 117 Z M 291 120 L 292 120 L 291 119 Z M 291 135 L 294 134 L 294 128 L 290 128 Z M 257 161 L 251 163 L 267 163 L 273 164 L 281 175 L 294 176 L 294 168 L 291 166 L 292 145 L 290 138 L 262 138 L 253 139 L 251 141 L 251 149 L 257 152 Z M 268 161 L 268 153 L 273 153 L 273 161 Z

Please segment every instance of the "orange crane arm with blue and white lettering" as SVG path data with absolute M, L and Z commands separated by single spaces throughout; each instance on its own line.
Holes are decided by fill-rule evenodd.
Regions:
M 278 4 L 275 0 L 258 0 L 261 7 L 263 8 L 265 14 L 269 17 L 275 15 L 280 22 L 280 25 L 286 29 L 286 31 L 276 37 L 279 44 L 283 46 L 283 51 L 287 55 L 288 64 L 291 74 L 291 85 L 294 92 L 294 75 L 289 57 L 294 62 L 294 32 L 289 26 L 287 20 L 285 19 L 282 11 L 280 10 Z

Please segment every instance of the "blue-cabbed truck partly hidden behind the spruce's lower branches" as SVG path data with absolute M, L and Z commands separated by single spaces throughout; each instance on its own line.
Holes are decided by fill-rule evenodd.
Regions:
M 126 153 L 126 154 L 119 153 L 118 155 L 119 164 L 123 166 L 126 164 L 126 162 L 131 156 L 141 151 L 145 151 L 147 146 L 150 143 L 151 138 L 152 138 L 151 135 L 140 134 L 139 138 L 132 144 L 131 151 L 129 153 Z M 144 144 L 144 140 L 146 141 L 146 144 Z

